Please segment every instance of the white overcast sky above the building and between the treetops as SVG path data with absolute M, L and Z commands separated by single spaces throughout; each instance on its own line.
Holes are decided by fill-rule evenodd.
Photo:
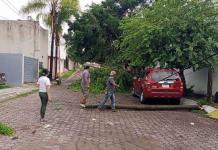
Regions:
M 19 14 L 21 6 L 29 0 L 0 0 L 0 20 L 25 19 L 25 16 Z M 102 0 L 79 0 L 81 10 L 85 10 L 92 3 L 100 3 Z

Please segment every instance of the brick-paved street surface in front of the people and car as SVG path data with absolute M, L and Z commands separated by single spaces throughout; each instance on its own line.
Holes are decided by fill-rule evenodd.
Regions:
M 0 150 L 218 149 L 216 120 L 187 111 L 84 110 L 78 105 L 80 93 L 65 86 L 53 87 L 52 93 L 46 124 L 39 123 L 37 94 L 0 105 L 0 121 L 17 136 L 0 136 Z

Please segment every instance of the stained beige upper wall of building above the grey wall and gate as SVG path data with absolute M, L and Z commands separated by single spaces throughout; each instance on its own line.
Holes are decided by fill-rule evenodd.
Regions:
M 48 31 L 39 22 L 0 20 L 0 53 L 20 53 L 48 64 Z

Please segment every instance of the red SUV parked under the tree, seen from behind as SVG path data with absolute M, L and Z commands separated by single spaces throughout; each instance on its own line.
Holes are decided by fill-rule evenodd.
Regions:
M 140 97 L 140 102 L 148 99 L 172 99 L 174 104 L 180 104 L 183 96 L 183 83 L 175 69 L 147 69 L 144 75 L 134 77 L 133 95 Z

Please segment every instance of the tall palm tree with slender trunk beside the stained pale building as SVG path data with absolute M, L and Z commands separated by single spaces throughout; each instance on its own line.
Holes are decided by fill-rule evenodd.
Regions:
M 48 11 L 46 12 L 46 10 Z M 50 79 L 52 79 L 53 73 L 54 40 L 56 41 L 55 43 L 57 54 L 58 46 L 60 43 L 59 35 L 62 31 L 62 24 L 64 21 L 69 19 L 71 15 L 73 15 L 73 13 L 75 13 L 77 10 L 78 0 L 31 0 L 21 9 L 21 12 L 24 14 L 37 12 L 37 19 L 42 18 L 51 30 Z M 64 13 L 62 11 L 64 11 Z M 59 17 L 58 14 L 63 14 L 64 16 Z

